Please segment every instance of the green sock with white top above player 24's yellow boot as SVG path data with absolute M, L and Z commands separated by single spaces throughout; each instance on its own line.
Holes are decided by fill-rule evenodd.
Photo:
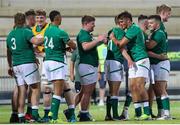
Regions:
M 50 110 L 50 113 L 52 113 L 52 116 L 50 117 L 52 117 L 53 120 L 58 119 L 58 111 L 59 111 L 60 102 L 61 102 L 61 97 L 57 95 L 53 95 L 52 103 L 51 103 L 51 110 Z

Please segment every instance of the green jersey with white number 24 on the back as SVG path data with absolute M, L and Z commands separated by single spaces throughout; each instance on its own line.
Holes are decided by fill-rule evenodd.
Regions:
M 45 60 L 64 63 L 68 34 L 56 25 L 50 24 L 44 33 Z

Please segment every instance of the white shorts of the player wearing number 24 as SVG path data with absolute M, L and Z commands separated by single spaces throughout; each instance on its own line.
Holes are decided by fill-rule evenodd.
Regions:
M 64 63 L 48 60 L 44 61 L 44 66 L 48 81 L 65 80 Z

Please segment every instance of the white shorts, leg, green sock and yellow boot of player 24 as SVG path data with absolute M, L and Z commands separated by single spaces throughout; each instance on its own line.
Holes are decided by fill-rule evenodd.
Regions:
M 58 123 L 60 122 L 60 119 L 58 119 L 58 112 L 61 103 L 61 94 L 64 90 L 64 64 L 57 61 L 45 61 L 44 64 L 48 81 L 51 81 L 54 86 L 54 94 L 48 116 L 51 123 Z

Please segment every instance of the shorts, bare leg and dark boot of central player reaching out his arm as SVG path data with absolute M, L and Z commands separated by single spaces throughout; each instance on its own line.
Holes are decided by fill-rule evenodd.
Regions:
M 79 74 L 81 76 L 81 111 L 80 121 L 92 121 L 89 115 L 89 103 L 91 95 L 97 82 L 97 67 L 88 64 L 79 64 Z

